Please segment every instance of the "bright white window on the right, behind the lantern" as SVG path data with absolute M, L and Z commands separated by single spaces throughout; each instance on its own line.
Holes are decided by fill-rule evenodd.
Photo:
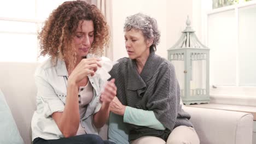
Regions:
M 210 93 L 255 96 L 256 1 L 236 2 L 207 13 L 205 37 L 214 87 Z

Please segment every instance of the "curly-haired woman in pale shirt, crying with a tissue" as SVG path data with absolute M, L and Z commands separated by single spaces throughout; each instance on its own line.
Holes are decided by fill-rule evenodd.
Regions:
M 100 10 L 84 1 L 64 2 L 50 14 L 38 38 L 40 55 L 50 58 L 35 74 L 33 143 L 112 143 L 97 135 L 117 91 L 114 79 L 103 85 L 94 76 L 101 67 L 94 55 L 100 56 L 109 41 Z

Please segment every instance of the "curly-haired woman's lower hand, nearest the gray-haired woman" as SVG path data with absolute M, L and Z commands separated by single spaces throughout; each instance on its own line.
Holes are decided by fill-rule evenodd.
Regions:
M 117 95 L 117 87 L 115 86 L 115 79 L 112 79 L 104 87 L 100 100 L 102 103 L 109 105 L 115 95 Z

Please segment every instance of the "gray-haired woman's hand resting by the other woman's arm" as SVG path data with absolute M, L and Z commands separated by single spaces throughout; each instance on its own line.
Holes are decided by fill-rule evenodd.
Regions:
M 124 116 L 126 106 L 123 105 L 117 97 L 114 97 L 113 101 L 110 103 L 110 111 L 113 113 Z

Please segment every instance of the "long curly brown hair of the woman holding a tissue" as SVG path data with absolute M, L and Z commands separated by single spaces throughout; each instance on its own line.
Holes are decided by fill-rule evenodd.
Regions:
M 101 56 L 103 47 L 109 44 L 109 27 L 101 11 L 84 1 L 67 1 L 53 10 L 38 35 L 40 55 L 54 59 L 63 58 L 68 70 L 74 68 L 77 53 L 72 42 L 80 20 L 94 23 L 94 41 L 90 53 Z

